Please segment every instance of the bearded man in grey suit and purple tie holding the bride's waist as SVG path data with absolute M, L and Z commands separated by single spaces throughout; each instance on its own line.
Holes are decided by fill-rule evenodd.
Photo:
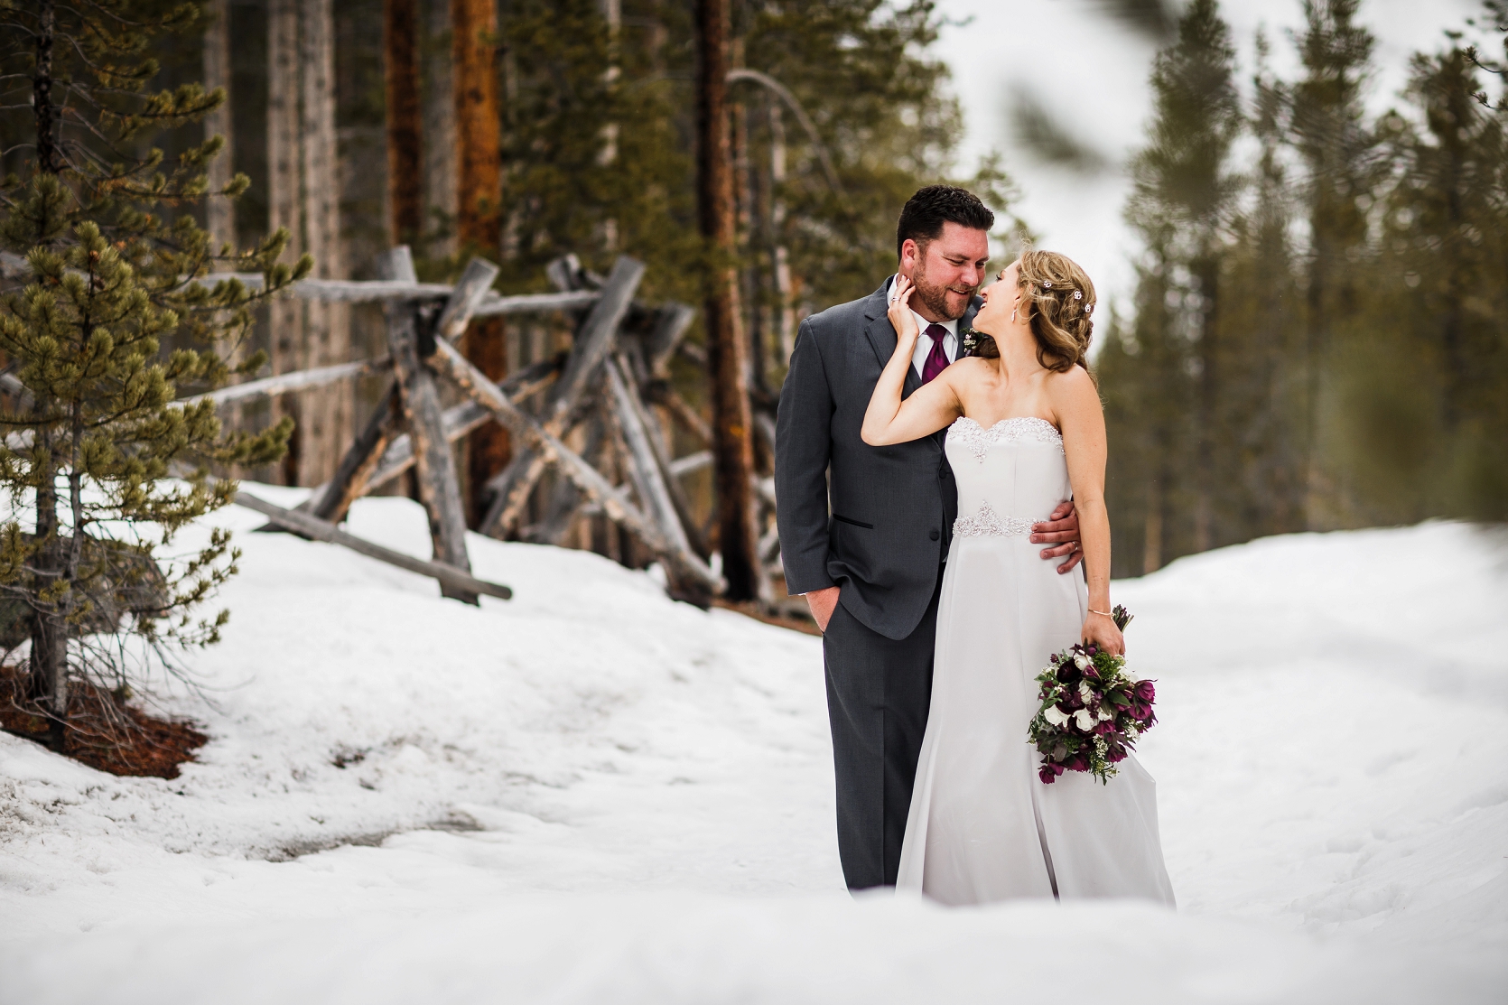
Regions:
M 899 275 L 915 282 L 921 337 L 909 395 L 959 356 L 979 311 L 995 216 L 971 192 L 927 186 L 900 211 Z M 838 857 L 851 890 L 894 886 L 932 699 L 942 563 L 958 516 L 946 430 L 869 447 L 860 426 L 896 352 L 885 317 L 894 276 L 801 323 L 780 394 L 775 498 L 786 585 L 822 629 L 837 774 Z M 831 475 L 831 478 L 829 478 Z M 831 498 L 831 512 L 828 502 Z M 1060 506 L 1031 540 L 1078 564 L 1078 518 Z M 1025 742 L 1025 736 L 1021 738 Z

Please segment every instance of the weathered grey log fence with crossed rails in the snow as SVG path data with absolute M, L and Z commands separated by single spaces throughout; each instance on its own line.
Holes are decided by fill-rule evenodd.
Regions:
M 315 540 L 351 548 L 363 555 L 433 576 L 445 596 L 475 604 L 481 595 L 510 598 L 505 585 L 470 573 L 466 524 L 451 444 L 487 423 L 499 423 L 514 436 L 514 457 L 490 483 L 493 501 L 483 531 L 502 537 L 519 530 L 529 495 L 544 471 L 564 478 L 555 490 L 541 530 L 558 539 L 576 515 L 602 513 L 656 555 L 670 579 L 671 593 L 707 604 L 719 578 L 707 563 L 703 531 L 692 519 L 691 504 L 679 478 L 706 466 L 710 453 L 697 451 L 676 459 L 670 438 L 651 404 L 664 407 L 683 429 L 706 441 L 701 416 L 674 391 L 667 376 L 670 359 L 686 350 L 683 337 L 694 311 L 670 303 L 648 315 L 633 297 L 644 266 L 618 258 L 608 276 L 585 273 L 573 260 L 553 264 L 547 273 L 555 293 L 499 296 L 492 291 L 498 267 L 472 260 L 454 285 L 418 282 L 413 260 L 404 246 L 379 260 L 380 279 L 305 279 L 290 287 L 302 299 L 344 303 L 382 303 L 388 327 L 388 353 L 220 388 L 181 398 L 184 404 L 214 401 L 231 404 L 315 391 L 360 376 L 389 374 L 388 392 L 357 432 L 330 481 L 318 486 L 300 507 L 288 510 L 247 492 L 237 504 L 262 513 L 268 521 Z M 6 255 L 0 267 L 8 279 L 24 276 L 24 260 Z M 216 273 L 192 282 L 214 285 L 237 281 L 259 288 L 259 273 Z M 590 288 L 590 287 L 597 288 Z M 431 305 L 443 305 L 437 312 Z M 567 311 L 579 317 L 573 347 L 561 358 L 534 364 L 508 380 L 495 383 L 452 344 L 478 317 Z M 638 329 L 624 335 L 636 314 Z M 440 389 L 451 388 L 460 404 L 440 407 Z M 9 373 L 0 373 L 0 391 L 26 395 Z M 540 394 L 547 398 L 538 415 L 523 404 Z M 587 456 L 602 453 L 612 463 L 612 477 L 587 456 L 572 450 L 567 438 L 584 429 Z M 433 560 L 403 555 L 336 527 L 351 502 L 415 469 L 418 495 L 430 521 Z M 623 484 L 615 484 L 620 477 Z

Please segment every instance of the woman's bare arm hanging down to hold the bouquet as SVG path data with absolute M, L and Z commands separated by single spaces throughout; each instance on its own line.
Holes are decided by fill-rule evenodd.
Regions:
M 1084 542 L 1089 610 L 1084 641 L 1120 655 L 1125 638 L 1110 619 L 1110 510 L 1105 509 L 1105 413 L 1099 391 L 1083 367 L 1048 380 L 1048 401 L 1063 430 L 1068 480 L 1074 486 L 1078 530 Z

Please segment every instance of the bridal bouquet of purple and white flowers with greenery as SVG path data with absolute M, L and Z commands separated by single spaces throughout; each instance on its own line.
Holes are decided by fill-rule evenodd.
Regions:
M 1131 623 L 1120 605 L 1111 616 L 1120 631 Z M 1157 724 L 1157 688 L 1128 673 L 1125 656 L 1111 656 L 1093 644 L 1074 644 L 1050 656 L 1048 664 L 1038 675 L 1042 706 L 1027 730 L 1042 755 L 1038 776 L 1051 785 L 1063 771 L 1090 771 L 1104 785 L 1116 776 L 1116 764 L 1125 761 L 1137 736 Z

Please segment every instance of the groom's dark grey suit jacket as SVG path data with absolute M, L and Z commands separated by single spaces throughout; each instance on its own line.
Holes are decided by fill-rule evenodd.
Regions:
M 841 587 L 854 617 L 905 638 L 932 602 L 958 487 L 942 454 L 946 432 L 893 447 L 860 439 L 879 371 L 896 352 L 888 288 L 801 323 L 775 426 L 775 516 L 792 595 Z M 977 309 L 979 300 L 959 321 L 961 335 Z M 920 386 L 908 367 L 902 397 Z

